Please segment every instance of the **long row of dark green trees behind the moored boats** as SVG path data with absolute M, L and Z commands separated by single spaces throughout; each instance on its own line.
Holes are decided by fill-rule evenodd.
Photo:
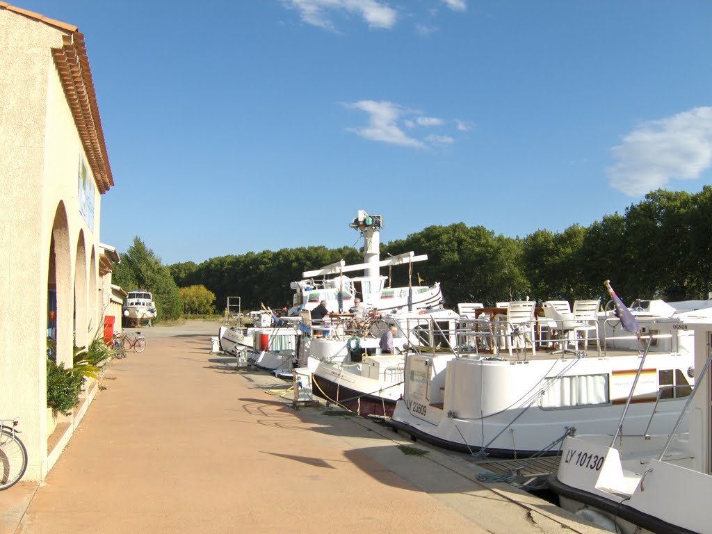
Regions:
M 624 214 L 561 232 L 540 229 L 512 238 L 484 226 L 456 223 L 428 226 L 381 246 L 382 257 L 408 251 L 427 254 L 428 261 L 415 263 L 412 272 L 398 266 L 392 273 L 384 268 L 382 274 L 392 277 L 392 286 L 439 281 L 451 308 L 459 302 L 493 305 L 527 297 L 605 302 L 607 279 L 626 303 L 635 298 L 705 299 L 712 290 L 712 187 L 694 194 L 659 189 Z M 229 296 L 239 296 L 243 310 L 258 309 L 261 303 L 282 308 L 291 305 L 291 281 L 300 280 L 303 271 L 340 259 L 361 263 L 362 251 L 283 248 L 199 264 L 174 263 L 163 272 L 176 288 L 204 286 L 214 293 L 216 310 L 224 310 Z

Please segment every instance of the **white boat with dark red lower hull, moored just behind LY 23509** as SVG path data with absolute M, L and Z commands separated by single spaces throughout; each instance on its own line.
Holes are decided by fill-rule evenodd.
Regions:
M 312 340 L 306 367 L 314 394 L 362 416 L 389 417 L 403 395 L 406 352 L 454 345 L 458 319 L 452 310 L 384 315 L 385 323 L 397 328 L 395 353 L 389 355 L 381 354 L 375 337 Z

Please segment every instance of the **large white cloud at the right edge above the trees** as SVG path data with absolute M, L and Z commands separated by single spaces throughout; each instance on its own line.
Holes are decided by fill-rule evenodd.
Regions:
M 712 164 L 712 107 L 644 122 L 611 152 L 617 160 L 607 169 L 611 186 L 631 197 L 671 179 L 696 179 Z

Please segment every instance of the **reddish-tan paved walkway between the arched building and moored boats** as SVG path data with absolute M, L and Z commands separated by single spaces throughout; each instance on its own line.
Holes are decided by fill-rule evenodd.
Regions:
M 0 534 L 601 532 L 374 422 L 293 409 L 209 352 L 217 325 L 144 332 L 46 481 L 0 493 Z

